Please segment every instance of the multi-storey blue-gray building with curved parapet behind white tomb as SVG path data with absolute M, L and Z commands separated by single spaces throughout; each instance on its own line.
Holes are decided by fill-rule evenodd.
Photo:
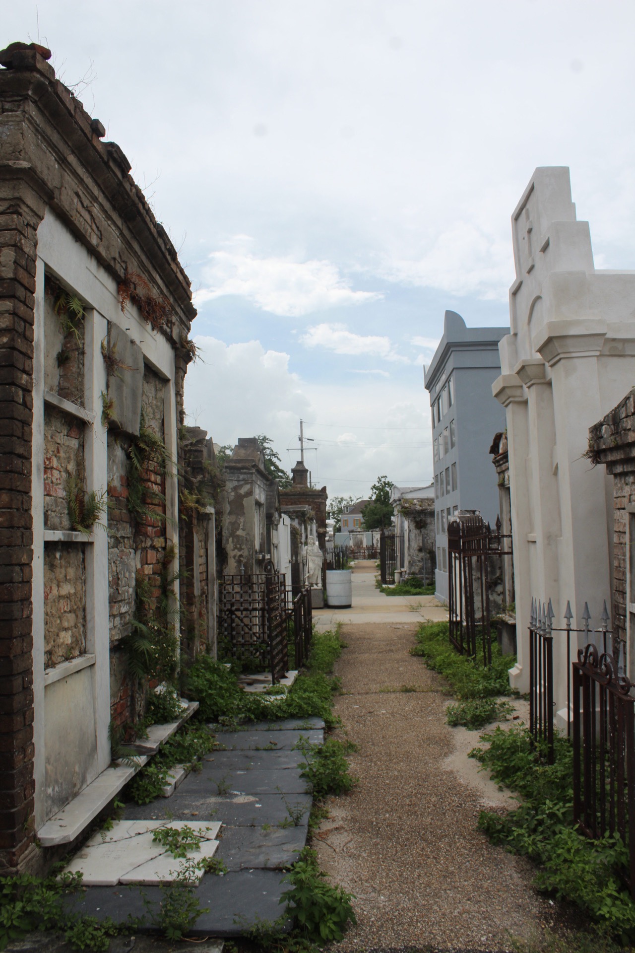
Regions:
M 501 373 L 498 342 L 509 328 L 467 328 L 446 311 L 444 335 L 425 371 L 432 409 L 436 596 L 447 601 L 447 520 L 457 510 L 498 516 L 498 487 L 489 447 L 506 428 L 505 410 L 491 385 Z

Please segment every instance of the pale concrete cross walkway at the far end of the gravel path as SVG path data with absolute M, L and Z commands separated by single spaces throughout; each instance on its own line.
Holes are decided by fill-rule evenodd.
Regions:
M 334 629 L 338 622 L 441 621 L 447 618 L 446 607 L 434 596 L 386 596 L 375 586 L 379 570 L 372 559 L 360 559 L 352 566 L 352 605 L 350 609 L 313 609 L 313 622 L 318 631 Z

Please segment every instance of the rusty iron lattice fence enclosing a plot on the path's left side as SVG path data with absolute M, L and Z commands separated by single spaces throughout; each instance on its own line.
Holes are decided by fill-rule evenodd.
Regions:
M 287 588 L 281 573 L 225 575 L 219 584 L 219 639 L 234 659 L 269 671 L 275 684 L 287 674 Z

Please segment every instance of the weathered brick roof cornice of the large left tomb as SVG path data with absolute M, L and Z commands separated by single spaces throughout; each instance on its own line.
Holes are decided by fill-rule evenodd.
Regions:
M 44 52 L 42 52 L 44 51 Z M 90 117 L 47 63 L 50 51 L 14 43 L 0 51 L 0 96 L 6 104 L 0 175 L 28 180 L 90 252 L 122 280 L 136 262 L 149 261 L 147 275 L 178 306 L 176 320 L 186 330 L 196 315 L 189 277 L 164 227 L 129 174 L 130 163 L 114 142 L 102 142 L 105 129 Z M 103 228 L 87 233 L 69 196 L 77 192 Z M 74 210 L 74 211 L 73 211 Z M 145 269 L 144 269 L 145 271 Z M 161 287 L 161 286 L 164 287 Z M 178 335 L 177 335 L 178 337 Z

